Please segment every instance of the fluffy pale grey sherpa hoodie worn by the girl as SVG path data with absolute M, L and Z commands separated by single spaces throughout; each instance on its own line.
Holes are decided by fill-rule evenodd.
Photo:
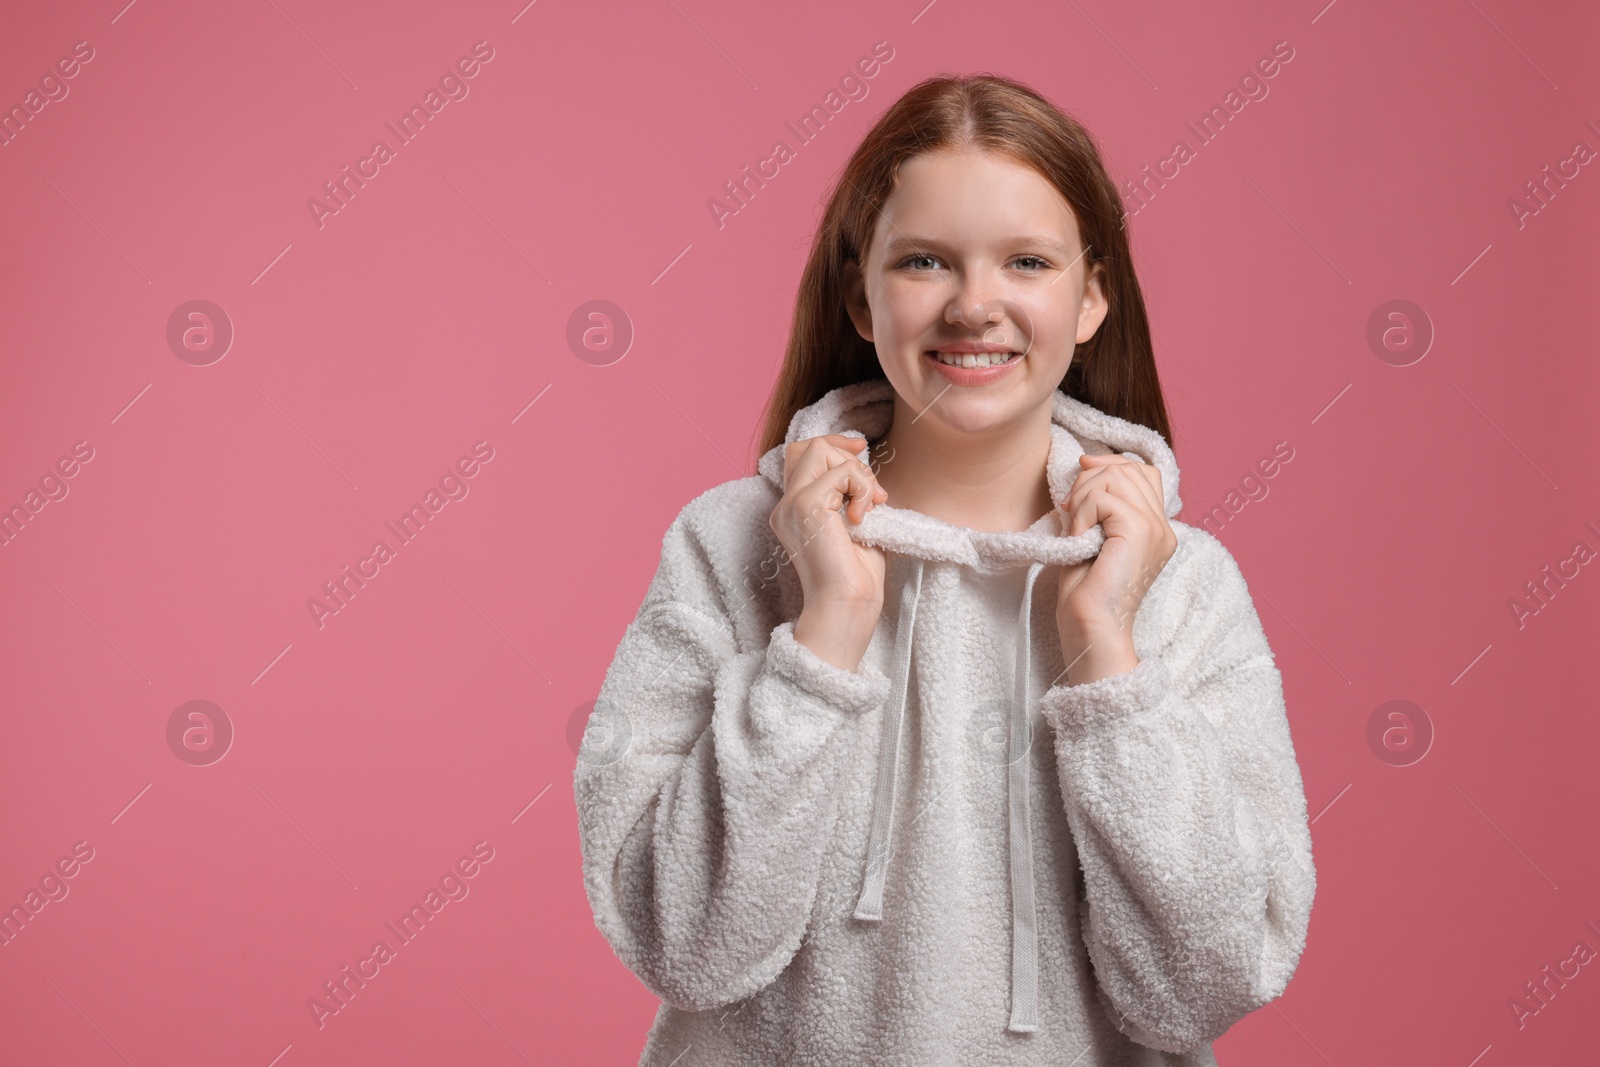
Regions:
M 787 440 L 877 440 L 885 381 Z M 768 525 L 782 446 L 691 501 L 606 670 L 574 773 L 595 925 L 662 1005 L 645 1067 L 1214 1064 L 1288 985 L 1315 893 L 1283 686 L 1248 585 L 1173 518 L 1154 430 L 1056 394 L 1046 482 L 1162 472 L 1178 549 L 1138 665 L 1064 680 L 1061 565 L 1104 531 L 974 531 L 880 504 L 856 670 L 794 637 Z

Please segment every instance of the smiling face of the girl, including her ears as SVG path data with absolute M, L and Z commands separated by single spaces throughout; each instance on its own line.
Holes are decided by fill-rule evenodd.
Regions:
M 848 264 L 846 307 L 899 402 L 982 434 L 1048 411 L 1074 346 L 1106 318 L 1083 251 L 1072 208 L 1032 168 L 925 152 L 901 165 L 864 267 Z M 981 349 L 1013 355 L 986 366 L 968 355 Z

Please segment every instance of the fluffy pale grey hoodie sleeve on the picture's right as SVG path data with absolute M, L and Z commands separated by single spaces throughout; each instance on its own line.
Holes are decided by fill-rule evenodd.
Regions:
M 1096 995 L 1133 1040 L 1171 1053 L 1285 990 L 1317 881 L 1250 587 L 1219 541 L 1194 539 L 1165 654 L 1139 649 L 1136 667 L 1043 697 Z

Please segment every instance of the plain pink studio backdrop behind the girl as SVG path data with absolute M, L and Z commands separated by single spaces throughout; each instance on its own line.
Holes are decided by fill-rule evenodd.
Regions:
M 637 1062 L 658 1001 L 594 929 L 570 725 L 667 523 L 754 469 L 830 178 L 920 78 L 994 70 L 1133 179 L 1280 40 L 1269 94 L 1130 222 L 1181 518 L 1293 448 L 1213 530 L 1283 670 L 1320 885 L 1286 995 L 1218 1053 L 1592 1054 L 1600 965 L 1520 1029 L 1509 1000 L 1600 950 L 1600 565 L 1520 627 L 1510 601 L 1600 549 L 1600 168 L 1522 226 L 1507 202 L 1600 149 L 1594 5 L 122 2 L 0 35 L 6 109 L 94 53 L 0 149 L 0 504 L 93 448 L 0 547 L 0 904 L 93 849 L 0 947 L 0 1061 Z M 307 200 L 475 42 L 469 96 L 318 227 Z M 869 96 L 798 146 L 877 42 Z M 235 331 L 206 366 L 166 342 L 192 299 Z M 634 330 L 603 366 L 566 341 L 595 299 Z M 1366 342 L 1392 299 L 1435 334 L 1406 366 Z M 307 600 L 475 442 L 469 494 L 318 627 Z M 194 699 L 234 729 L 206 766 L 168 742 Z M 1434 729 L 1408 766 L 1368 742 L 1394 699 Z M 478 841 L 470 893 L 318 1027 Z

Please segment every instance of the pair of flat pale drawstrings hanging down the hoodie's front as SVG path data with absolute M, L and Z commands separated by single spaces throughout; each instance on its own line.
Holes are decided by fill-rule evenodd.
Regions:
M 1038 917 L 1034 907 L 1034 830 L 1029 821 L 1029 675 L 1032 669 L 1034 579 L 1045 568 L 1027 568 L 1022 608 L 1018 619 L 1016 673 L 1011 681 L 1011 715 L 1006 725 L 1006 838 L 1011 872 L 1011 1021 L 1018 1033 L 1038 1030 Z M 878 785 L 872 800 L 867 835 L 867 867 L 856 902 L 856 918 L 883 918 L 883 883 L 888 873 L 890 841 L 894 825 L 894 793 L 899 777 L 899 745 L 906 726 L 910 689 L 910 641 L 922 593 L 923 560 L 914 560 L 912 576 L 901 585 L 899 619 L 894 629 L 894 662 L 890 718 L 878 745 Z

